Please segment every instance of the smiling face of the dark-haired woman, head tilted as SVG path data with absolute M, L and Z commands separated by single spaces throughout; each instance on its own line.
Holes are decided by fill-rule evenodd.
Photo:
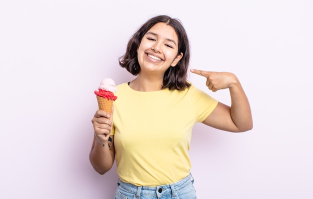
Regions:
M 154 24 L 142 37 L 137 49 L 140 72 L 156 72 L 163 75 L 167 68 L 181 59 L 178 38 L 174 28 L 164 22 Z M 139 73 L 140 73 L 139 72 Z

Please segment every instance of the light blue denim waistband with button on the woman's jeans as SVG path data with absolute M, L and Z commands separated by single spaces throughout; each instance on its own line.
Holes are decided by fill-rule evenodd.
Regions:
M 172 184 L 164 184 L 158 186 L 136 186 L 131 183 L 123 182 L 120 179 L 117 180 L 118 186 L 122 187 L 128 192 L 134 193 L 138 198 L 139 195 L 161 197 L 162 195 L 171 194 L 172 196 L 175 196 L 176 192 L 192 185 L 192 183 L 193 178 L 191 176 L 191 173 L 185 178 Z

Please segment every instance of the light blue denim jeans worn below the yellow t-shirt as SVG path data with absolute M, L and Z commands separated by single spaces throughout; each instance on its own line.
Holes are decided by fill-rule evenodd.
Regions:
M 172 184 L 159 186 L 136 186 L 117 180 L 115 199 L 195 199 L 191 174 Z

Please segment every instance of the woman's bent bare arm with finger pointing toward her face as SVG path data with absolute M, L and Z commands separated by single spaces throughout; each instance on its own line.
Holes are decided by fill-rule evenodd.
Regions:
M 213 92 L 228 88 L 231 97 L 231 106 L 218 102 L 215 109 L 202 123 L 217 129 L 243 132 L 252 129 L 252 116 L 248 99 L 238 78 L 230 72 L 210 72 L 190 70 L 193 73 L 206 77 L 206 86 Z

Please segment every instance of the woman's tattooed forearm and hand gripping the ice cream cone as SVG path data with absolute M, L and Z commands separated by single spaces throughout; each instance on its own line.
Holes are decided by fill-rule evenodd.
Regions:
M 91 120 L 94 136 L 89 159 L 94 170 L 100 174 L 112 167 L 115 157 L 114 135 L 110 135 L 112 121 L 109 118 L 105 111 L 97 110 Z

